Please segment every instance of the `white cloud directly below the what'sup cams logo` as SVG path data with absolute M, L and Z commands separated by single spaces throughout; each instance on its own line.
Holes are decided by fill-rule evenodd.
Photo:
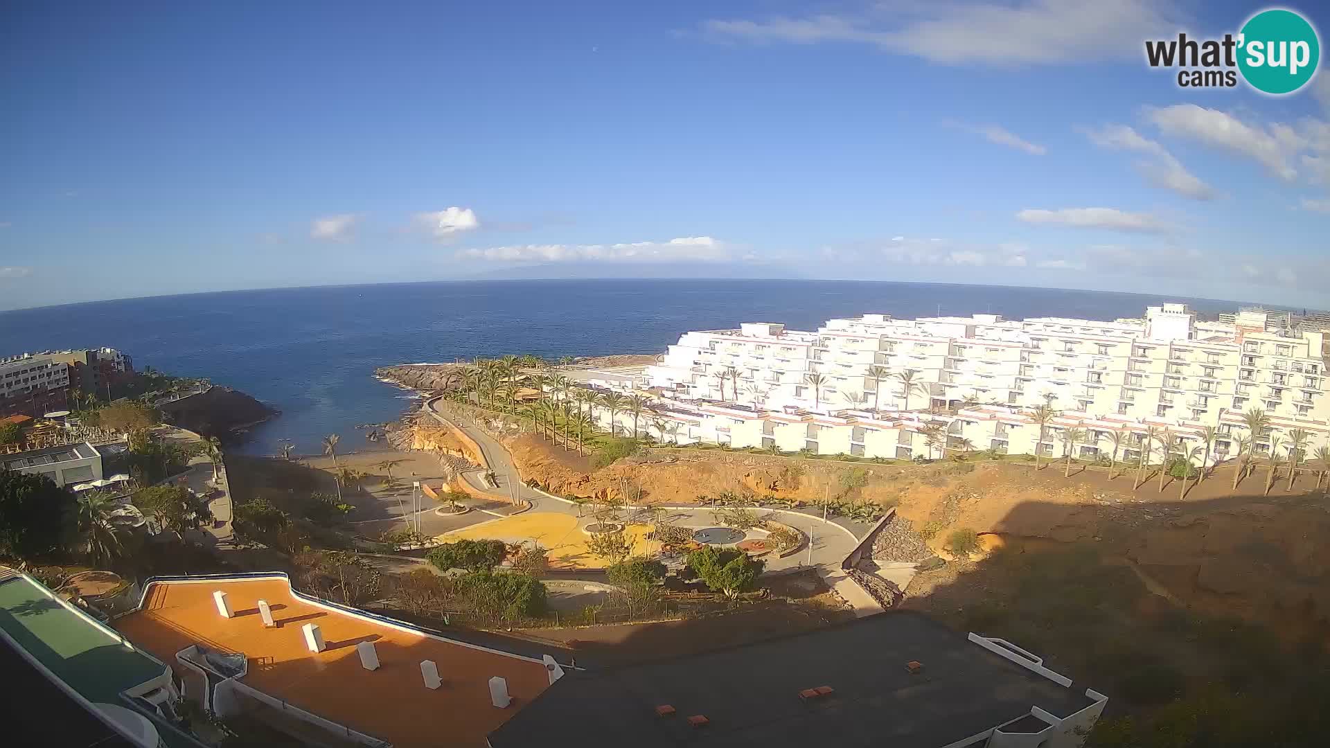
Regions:
M 1297 178 L 1293 157 L 1310 142 L 1289 125 L 1249 125 L 1237 117 L 1196 104 L 1149 109 L 1149 120 L 1168 134 L 1190 137 L 1212 148 L 1254 158 L 1285 181 Z

